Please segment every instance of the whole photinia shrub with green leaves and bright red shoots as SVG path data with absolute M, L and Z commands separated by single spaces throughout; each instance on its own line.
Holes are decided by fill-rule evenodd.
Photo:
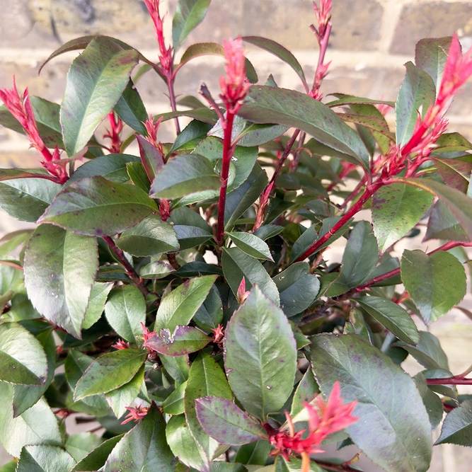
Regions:
M 456 35 L 421 40 L 396 103 L 322 102 L 330 0 L 314 5 L 312 85 L 256 36 L 176 62 L 209 0 L 178 2 L 171 46 L 159 0 L 145 1 L 158 64 L 87 36 L 48 59 L 83 50 L 61 105 L 14 79 L 0 91 L 1 125 L 42 156 L 0 169 L 0 207 L 37 224 L 0 244 L 0 442 L 14 458 L 0 471 L 355 471 L 357 456 L 318 453 L 356 444 L 385 471 L 424 472 L 441 422 L 436 444 L 470 446 L 471 397 L 456 386 L 472 379 L 415 320 L 466 294 L 472 144 L 444 115 L 472 52 Z M 304 92 L 259 84 L 244 44 L 287 63 Z M 224 57 L 221 90 L 177 102 L 175 76 L 205 54 Z M 146 73 L 168 86 L 169 113 L 147 115 Z M 165 120 L 173 143 L 159 140 Z M 439 247 L 393 257 L 418 225 Z M 337 239 L 342 263 L 325 252 Z M 424 367 L 413 378 L 409 355 Z M 75 413 L 88 432 L 69 434 Z

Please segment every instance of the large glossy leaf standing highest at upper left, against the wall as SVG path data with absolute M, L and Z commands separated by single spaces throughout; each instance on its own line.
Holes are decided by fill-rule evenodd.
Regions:
M 67 74 L 61 105 L 61 125 L 67 155 L 86 146 L 103 118 L 120 100 L 139 54 L 98 37 L 74 59 Z

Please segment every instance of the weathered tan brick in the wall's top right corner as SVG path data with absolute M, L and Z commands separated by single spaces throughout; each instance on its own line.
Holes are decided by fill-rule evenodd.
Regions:
M 412 54 L 422 38 L 442 38 L 456 30 L 472 35 L 472 1 L 431 1 L 403 6 L 390 52 Z

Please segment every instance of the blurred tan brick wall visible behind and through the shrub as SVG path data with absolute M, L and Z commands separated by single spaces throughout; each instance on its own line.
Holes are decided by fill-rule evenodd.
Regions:
M 171 18 L 177 0 L 162 1 L 168 11 L 166 38 L 171 38 Z M 18 89 L 25 86 L 31 95 L 60 103 L 67 71 L 77 52 L 63 54 L 46 65 L 42 62 L 60 45 L 83 35 L 111 35 L 136 47 L 144 56 L 157 60 L 156 42 L 144 1 L 140 0 L 0 0 L 0 87 L 11 87 L 16 75 Z M 190 34 L 177 59 L 194 42 L 219 42 L 237 35 L 270 38 L 291 50 L 308 81 L 312 80 L 318 59 L 316 39 L 309 25 L 315 21 L 310 0 L 212 0 L 205 21 Z M 325 97 L 342 92 L 369 98 L 395 100 L 403 81 L 403 64 L 414 59 L 415 43 L 421 38 L 441 38 L 456 31 L 463 49 L 472 45 L 472 0 L 333 0 L 333 32 L 326 61 L 332 61 L 321 90 Z M 269 74 L 278 86 L 301 91 L 298 77 L 272 55 L 246 48 L 247 56 L 258 72 L 260 83 Z M 205 81 L 214 96 L 219 91 L 223 60 L 219 57 L 194 59 L 177 76 L 175 93 L 181 98 L 197 96 Z M 170 110 L 166 87 L 156 74 L 149 72 L 137 86 L 148 113 Z M 329 98 L 329 97 L 327 97 Z M 458 131 L 472 139 L 472 81 L 461 89 L 449 114 L 449 131 Z M 393 115 L 388 115 L 393 127 Z M 184 120 L 182 120 L 184 123 Z M 98 132 L 98 136 L 103 132 Z M 163 124 L 161 141 L 173 140 L 173 122 Z M 130 148 L 131 154 L 132 148 Z M 0 167 L 34 167 L 38 156 L 28 150 L 28 141 L 0 127 Z M 369 215 L 362 214 L 367 219 Z M 0 237 L 28 224 L 0 212 Z M 333 244 L 330 258 L 340 260 L 344 240 Z M 429 243 L 429 249 L 434 242 Z M 418 248 L 420 239 L 397 245 Z M 472 310 L 469 295 L 462 306 Z M 424 326 L 422 329 L 426 329 Z M 460 311 L 451 311 L 430 328 L 449 355 L 451 371 L 464 372 L 472 363 L 472 321 Z M 404 367 L 412 374 L 420 371 L 415 361 Z M 460 390 L 466 393 L 466 389 Z M 468 393 L 471 393 L 469 391 Z M 71 418 L 72 419 L 72 418 Z M 439 432 L 435 432 L 436 437 Z M 345 457 L 355 449 L 345 448 Z M 0 465 L 6 461 L 0 454 Z M 364 465 L 365 464 L 365 465 Z M 379 469 L 364 462 L 366 472 Z M 432 472 L 471 472 L 471 449 L 444 444 L 434 448 Z

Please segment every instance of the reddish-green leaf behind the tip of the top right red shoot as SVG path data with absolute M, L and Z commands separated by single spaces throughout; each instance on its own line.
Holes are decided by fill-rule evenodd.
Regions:
M 425 38 L 419 40 L 415 47 L 415 64 L 432 78 L 434 86 L 439 89 L 442 73 L 447 61 L 451 37 Z

